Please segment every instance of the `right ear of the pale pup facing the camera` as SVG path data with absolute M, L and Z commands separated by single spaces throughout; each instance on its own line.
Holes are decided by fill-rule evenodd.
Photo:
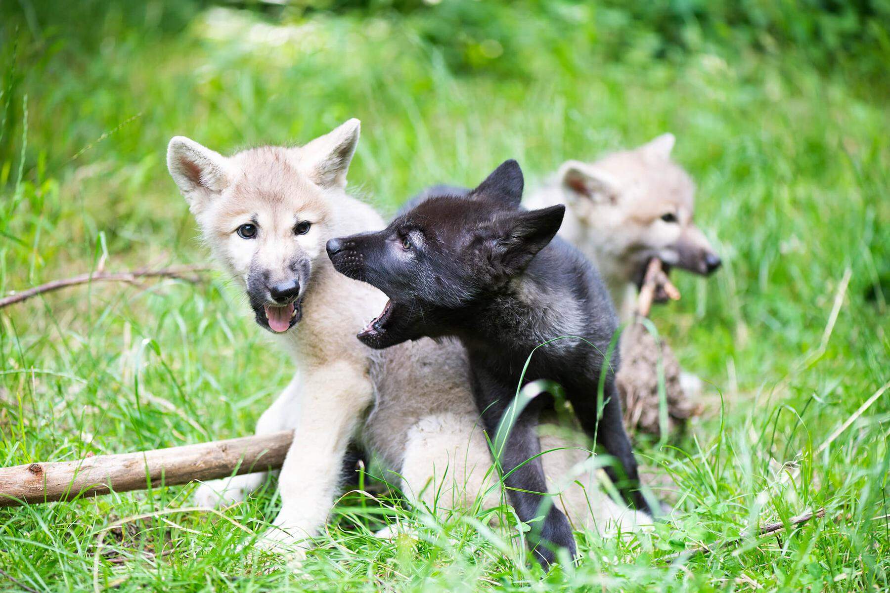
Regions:
M 359 144 L 361 123 L 354 117 L 298 148 L 300 166 L 322 188 L 345 188 L 346 172 Z

